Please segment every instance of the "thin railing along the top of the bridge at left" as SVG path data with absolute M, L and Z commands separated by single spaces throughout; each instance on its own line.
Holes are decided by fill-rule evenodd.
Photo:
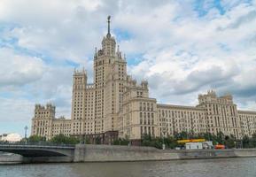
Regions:
M 74 148 L 74 144 L 66 144 L 66 143 L 52 143 L 52 142 L 0 142 L 0 145 L 7 146 L 50 146 L 50 147 L 66 147 L 66 148 Z

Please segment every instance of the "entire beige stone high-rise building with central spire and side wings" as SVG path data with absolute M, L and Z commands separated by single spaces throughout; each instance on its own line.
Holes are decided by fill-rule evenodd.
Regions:
M 35 105 L 31 135 L 74 135 L 96 138 L 103 143 L 143 135 L 166 136 L 188 133 L 224 133 L 238 139 L 256 132 L 256 112 L 237 110 L 231 95 L 217 96 L 213 90 L 198 96 L 198 105 L 158 104 L 149 97 L 148 82 L 136 83 L 127 73 L 125 55 L 116 48 L 108 32 L 102 48 L 95 51 L 93 83 L 84 69 L 74 70 L 71 119 L 55 118 L 55 106 Z

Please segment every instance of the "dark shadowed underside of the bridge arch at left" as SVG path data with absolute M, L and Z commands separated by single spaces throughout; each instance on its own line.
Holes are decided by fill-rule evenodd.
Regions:
M 23 157 L 61 157 L 66 156 L 65 154 L 51 151 L 51 150 L 2 150 L 3 152 L 10 152 L 13 154 L 19 154 Z

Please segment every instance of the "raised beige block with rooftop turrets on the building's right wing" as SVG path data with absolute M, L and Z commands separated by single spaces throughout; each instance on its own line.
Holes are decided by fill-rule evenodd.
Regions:
M 206 95 L 198 96 L 198 107 L 206 112 L 206 130 L 212 134 L 222 132 L 225 135 L 241 137 L 241 125 L 237 112 L 237 105 L 233 103 L 231 95 L 216 96 L 215 92 L 208 91 Z

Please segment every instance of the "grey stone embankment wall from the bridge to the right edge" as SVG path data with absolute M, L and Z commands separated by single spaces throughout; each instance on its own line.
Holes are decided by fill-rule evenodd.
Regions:
M 158 150 L 151 147 L 76 145 L 74 162 L 256 157 L 256 150 Z

